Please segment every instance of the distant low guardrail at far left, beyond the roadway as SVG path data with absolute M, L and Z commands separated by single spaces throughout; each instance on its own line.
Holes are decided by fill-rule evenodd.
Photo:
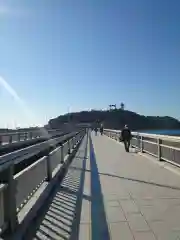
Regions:
M 0 145 L 11 144 L 13 142 L 26 141 L 34 138 L 54 136 L 63 133 L 62 129 L 54 130 L 34 130 L 28 132 L 7 132 L 0 133 Z

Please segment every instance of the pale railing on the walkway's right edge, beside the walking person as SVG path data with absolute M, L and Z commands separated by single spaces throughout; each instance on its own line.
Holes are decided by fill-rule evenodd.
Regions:
M 105 129 L 104 134 L 120 141 L 120 130 Z M 131 146 L 180 167 L 180 137 L 132 132 Z

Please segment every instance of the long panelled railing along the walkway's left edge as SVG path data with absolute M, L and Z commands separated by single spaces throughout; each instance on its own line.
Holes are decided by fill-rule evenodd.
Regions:
M 63 141 L 64 143 L 55 148 L 48 156 L 44 156 L 37 160 L 16 175 L 14 172 L 14 162 L 11 161 L 10 165 L 6 168 L 0 169 L 0 230 L 14 232 L 18 226 L 18 213 L 26 206 L 33 194 L 42 186 L 43 183 L 50 183 L 55 177 L 58 170 L 66 164 L 66 157 L 71 154 L 78 143 L 83 139 L 86 130 L 75 132 L 71 138 L 63 141 L 53 139 L 52 141 Z M 67 136 L 66 136 L 67 138 Z M 39 145 L 43 146 L 44 143 Z M 46 147 L 47 147 L 46 143 Z M 45 147 L 45 145 L 44 145 Z M 29 148 L 30 149 L 30 148 Z M 32 148 L 31 151 L 36 151 L 37 148 Z M 23 151 L 23 150 L 21 150 Z M 23 155 L 16 155 L 22 160 Z M 12 157 L 12 156 L 11 156 Z

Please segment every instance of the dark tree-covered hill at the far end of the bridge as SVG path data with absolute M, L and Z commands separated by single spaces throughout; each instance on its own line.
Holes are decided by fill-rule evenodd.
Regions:
M 107 111 L 82 111 L 61 115 L 49 121 L 51 128 L 61 128 L 65 123 L 71 124 L 103 122 L 105 128 L 121 129 L 128 124 L 132 130 L 179 129 L 180 121 L 172 117 L 143 116 L 122 109 Z

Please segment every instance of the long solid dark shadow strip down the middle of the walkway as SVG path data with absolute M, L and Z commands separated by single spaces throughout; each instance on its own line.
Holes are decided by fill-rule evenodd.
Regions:
M 101 183 L 97 161 L 91 137 L 90 140 L 90 168 L 91 171 L 91 239 L 110 240 L 108 223 L 106 220 Z

